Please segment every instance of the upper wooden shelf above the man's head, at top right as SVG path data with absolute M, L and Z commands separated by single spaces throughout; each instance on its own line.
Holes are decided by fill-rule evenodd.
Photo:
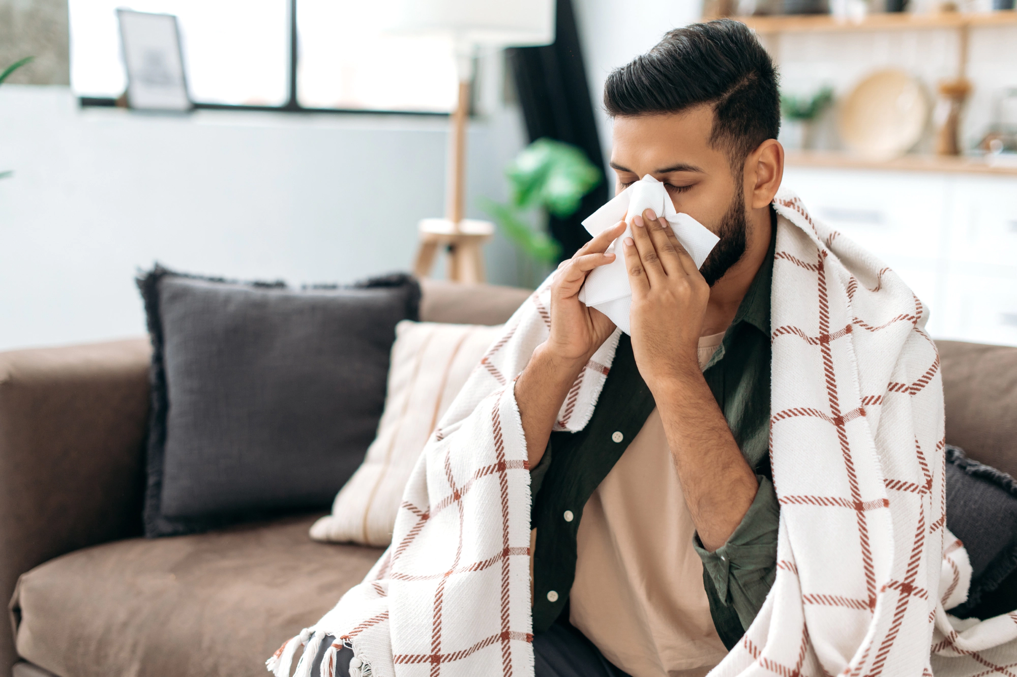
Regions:
M 888 12 L 869 14 L 853 22 L 829 14 L 786 16 L 732 16 L 761 35 L 775 33 L 834 33 L 842 30 L 909 30 L 915 28 L 962 28 L 974 26 L 1017 25 L 1017 10 L 965 13 L 939 12 L 911 14 Z

